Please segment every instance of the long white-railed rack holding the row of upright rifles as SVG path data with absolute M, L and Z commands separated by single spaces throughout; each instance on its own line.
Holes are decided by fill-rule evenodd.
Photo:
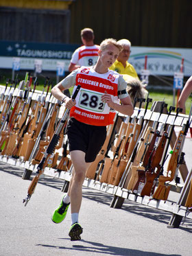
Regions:
M 35 100 L 37 98 L 37 95 L 39 94 L 40 92 L 34 93 L 32 100 Z M 52 104 L 56 104 L 56 100 L 54 100 L 53 97 L 50 98 L 49 102 L 51 102 Z M 137 119 L 139 119 L 139 117 L 141 117 L 143 113 L 145 113 L 143 119 L 147 121 L 151 121 L 152 123 L 157 121 L 158 119 L 163 123 L 165 119 L 167 119 L 166 124 L 180 126 L 180 127 L 186 124 L 188 119 L 187 115 L 180 114 L 178 115 L 178 117 L 176 117 L 175 113 L 171 113 L 171 115 L 169 115 L 169 117 L 166 118 L 168 114 L 163 113 L 161 114 L 161 117 L 160 117 L 160 113 L 159 113 L 160 110 L 159 110 L 158 103 L 160 102 L 156 102 L 156 112 L 152 110 L 147 110 L 147 112 L 145 113 L 145 110 L 142 108 L 141 109 L 134 108 L 134 114 L 132 115 L 132 117 L 136 115 Z M 121 118 L 122 121 L 123 119 L 125 119 L 124 115 L 119 115 L 119 117 Z M 176 134 L 175 132 L 173 132 L 173 136 L 170 143 L 171 148 L 173 148 L 173 144 L 175 143 L 175 141 L 176 141 Z M 30 157 L 30 159 L 32 159 L 32 157 Z M 26 178 L 26 179 L 29 178 L 30 174 L 32 174 L 32 172 L 34 172 L 37 167 L 37 164 L 33 165 L 31 161 L 14 159 L 11 156 L 2 155 L 2 154 L 0 155 L 0 161 L 4 163 L 8 163 L 10 165 L 23 167 L 25 169 L 23 178 Z M 69 186 L 69 181 L 71 179 L 71 172 L 57 171 L 56 169 L 53 169 L 51 167 L 45 167 L 44 174 L 47 176 L 52 176 L 54 178 L 60 178 L 64 180 L 64 186 L 62 188 L 62 191 L 67 191 Z M 186 181 L 187 183 L 187 184 L 184 184 L 184 186 L 187 187 L 187 189 L 185 190 L 185 194 L 182 194 L 181 192 L 181 196 L 183 200 L 183 198 L 187 197 L 187 191 L 189 191 L 189 183 L 191 181 L 192 170 L 191 172 L 188 172 L 186 164 L 183 164 L 183 165 L 180 165 L 180 174 L 182 175 L 183 180 Z M 169 222 L 170 227 L 178 227 L 180 225 L 180 221 L 182 220 L 182 217 L 186 217 L 192 220 L 192 211 L 189 211 L 187 207 L 178 205 L 178 203 L 176 202 L 171 202 L 169 200 L 156 200 L 156 199 L 150 198 L 149 196 L 139 196 L 137 194 L 131 193 L 130 191 L 128 191 L 128 189 L 124 189 L 119 186 L 110 185 L 107 183 L 100 183 L 99 181 L 95 181 L 94 179 L 90 179 L 90 178 L 85 178 L 83 186 L 90 187 L 92 189 L 97 189 L 99 191 L 103 191 L 105 193 L 113 195 L 114 199 L 112 200 L 110 207 L 121 208 L 121 206 L 123 205 L 123 200 L 128 199 L 143 205 L 147 205 L 149 207 L 168 211 L 169 213 L 172 213 L 172 217 Z M 180 191 L 183 190 L 181 189 L 182 188 L 180 187 Z

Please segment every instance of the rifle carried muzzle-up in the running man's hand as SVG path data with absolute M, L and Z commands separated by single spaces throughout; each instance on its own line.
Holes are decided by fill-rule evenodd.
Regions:
M 75 89 L 75 92 L 73 93 L 72 100 L 75 100 L 75 97 L 77 96 L 77 93 L 79 91 L 80 91 L 80 85 L 77 85 L 77 88 Z M 53 154 L 53 152 L 58 144 L 58 141 L 60 139 L 61 130 L 63 129 L 64 126 L 67 126 L 69 112 L 70 112 L 70 110 L 68 108 L 65 108 L 64 115 L 62 116 L 62 119 L 60 119 L 60 122 L 56 128 L 56 131 L 54 132 L 53 137 L 51 138 L 49 146 L 47 147 L 43 158 L 41 159 L 40 163 L 37 166 L 36 176 L 34 176 L 32 183 L 29 185 L 27 197 L 25 199 L 23 199 L 23 203 L 25 203 L 25 206 L 27 205 L 27 202 L 29 202 L 30 198 L 32 197 L 32 194 L 34 194 L 34 190 L 36 188 L 36 185 L 38 183 L 40 175 L 43 174 L 44 169 L 47 165 L 47 162 L 49 161 L 49 157 L 51 156 L 51 154 Z

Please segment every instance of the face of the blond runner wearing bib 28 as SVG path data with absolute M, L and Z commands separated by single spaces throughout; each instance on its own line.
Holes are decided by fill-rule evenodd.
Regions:
M 101 62 L 109 68 L 119 56 L 119 49 L 115 45 L 108 45 L 106 49 L 99 51 Z

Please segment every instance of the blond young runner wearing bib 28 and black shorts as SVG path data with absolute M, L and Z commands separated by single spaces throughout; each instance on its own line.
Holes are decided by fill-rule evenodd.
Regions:
M 121 45 L 115 39 L 104 40 L 100 45 L 95 66 L 81 67 L 73 71 L 51 90 L 54 97 L 71 109 L 67 135 L 73 176 L 67 195 L 62 198 L 60 206 L 52 216 L 53 222 L 62 222 L 71 203 L 71 240 L 81 239 L 82 226 L 78 222 L 78 215 L 82 202 L 82 184 L 88 166 L 95 160 L 106 139 L 106 126 L 113 122 L 114 113 L 110 112 L 110 108 L 124 115 L 133 113 L 125 80 L 119 73 L 108 69 L 121 50 Z M 62 91 L 70 86 L 75 89 L 77 84 L 80 84 L 81 89 L 73 102 Z M 117 96 L 121 104 L 115 102 Z

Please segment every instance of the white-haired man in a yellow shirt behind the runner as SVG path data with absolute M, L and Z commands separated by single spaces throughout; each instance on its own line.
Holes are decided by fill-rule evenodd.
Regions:
M 118 41 L 118 43 L 123 46 L 123 51 L 121 51 L 117 60 L 115 60 L 114 64 L 110 67 L 110 69 L 115 70 L 120 74 L 127 74 L 127 75 L 131 75 L 134 78 L 138 78 L 136 70 L 128 62 L 128 59 L 130 58 L 130 53 L 131 53 L 130 40 L 121 39 Z

